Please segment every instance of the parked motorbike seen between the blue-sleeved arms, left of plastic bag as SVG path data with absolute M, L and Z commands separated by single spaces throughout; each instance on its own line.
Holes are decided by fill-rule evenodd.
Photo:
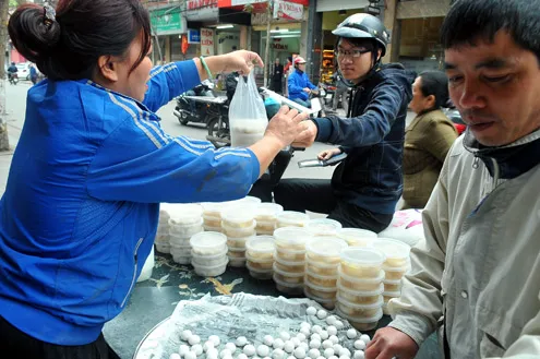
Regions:
M 172 113 L 178 118 L 180 124 L 183 125 L 188 124 L 188 122 L 208 124 L 211 120 L 208 110 L 211 110 L 212 103 L 208 103 L 207 99 L 217 97 L 214 94 L 214 84 L 206 80 L 178 96 L 177 106 Z

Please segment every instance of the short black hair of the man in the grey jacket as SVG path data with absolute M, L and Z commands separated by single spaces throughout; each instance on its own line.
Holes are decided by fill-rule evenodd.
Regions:
M 441 44 L 444 49 L 475 46 L 478 40 L 493 41 L 499 31 L 507 31 L 540 61 L 538 0 L 457 0 L 441 27 Z

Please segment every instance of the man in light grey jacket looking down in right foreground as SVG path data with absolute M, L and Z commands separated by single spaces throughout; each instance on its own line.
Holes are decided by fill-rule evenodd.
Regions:
M 540 1 L 458 0 L 442 44 L 468 125 L 423 212 L 425 241 L 368 359 L 540 358 Z

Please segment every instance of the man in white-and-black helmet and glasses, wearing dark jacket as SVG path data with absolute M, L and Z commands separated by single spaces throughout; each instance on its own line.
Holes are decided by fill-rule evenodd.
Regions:
M 332 180 L 286 179 L 274 190 L 275 202 L 289 211 L 327 213 L 344 227 L 379 232 L 386 228 L 403 190 L 405 119 L 412 75 L 400 64 L 381 64 L 389 35 L 377 17 L 355 14 L 333 32 L 337 63 L 352 87 L 348 118 L 307 121 L 313 141 L 340 145 L 320 158 L 347 152 Z

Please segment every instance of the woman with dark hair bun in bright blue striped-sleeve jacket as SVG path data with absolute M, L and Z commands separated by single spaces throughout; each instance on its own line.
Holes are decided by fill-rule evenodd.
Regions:
M 304 116 L 281 108 L 249 148 L 165 133 L 155 113 L 238 51 L 152 68 L 139 0 L 20 7 L 16 49 L 47 80 L 32 87 L 0 202 L 0 347 L 20 358 L 115 358 L 101 328 L 124 307 L 148 255 L 160 202 L 244 196 Z

